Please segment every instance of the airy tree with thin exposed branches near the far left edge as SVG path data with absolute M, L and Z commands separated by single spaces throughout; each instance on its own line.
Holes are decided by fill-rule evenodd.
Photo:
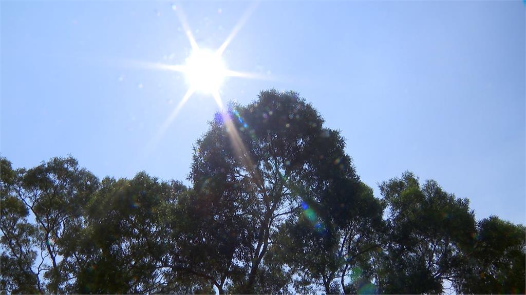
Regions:
M 37 281 L 41 271 L 46 281 L 45 290 L 40 283 L 38 289 L 64 292 L 68 282 L 75 279 L 77 266 L 76 257 L 67 255 L 67 248 L 82 228 L 84 204 L 98 187 L 97 177 L 79 168 L 73 157 L 53 158 L 16 174 L 12 196 L 35 220 L 35 230 L 30 230 L 36 244 L 32 249 L 39 248 L 42 262 L 37 268 Z

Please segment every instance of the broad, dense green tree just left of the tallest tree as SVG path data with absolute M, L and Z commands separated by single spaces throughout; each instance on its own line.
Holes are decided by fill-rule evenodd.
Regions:
M 74 293 L 188 293 L 174 275 L 170 252 L 175 204 L 186 187 L 146 173 L 105 178 L 87 204 L 86 228 L 76 239 Z

